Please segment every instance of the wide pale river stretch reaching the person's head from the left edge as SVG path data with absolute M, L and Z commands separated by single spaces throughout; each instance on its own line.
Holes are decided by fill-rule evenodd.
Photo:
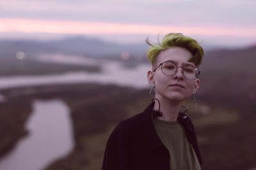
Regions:
M 0 77 L 0 89 L 17 88 L 20 86 L 35 86 L 45 84 L 74 84 L 81 82 L 97 82 L 100 84 L 116 84 L 133 88 L 148 88 L 147 72 L 150 65 L 141 64 L 127 68 L 120 62 L 105 62 L 100 64 L 102 72 L 67 72 L 52 75 L 26 75 Z

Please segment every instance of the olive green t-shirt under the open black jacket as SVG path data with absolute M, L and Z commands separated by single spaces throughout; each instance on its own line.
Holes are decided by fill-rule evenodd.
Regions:
M 152 118 L 157 135 L 170 154 L 172 170 L 200 170 L 195 151 L 189 144 L 184 128 L 179 121 L 169 122 Z

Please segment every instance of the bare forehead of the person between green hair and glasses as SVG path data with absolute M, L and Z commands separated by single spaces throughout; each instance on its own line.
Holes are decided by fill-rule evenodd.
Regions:
M 180 65 L 189 64 L 195 66 L 194 63 L 188 61 L 192 56 L 189 50 L 182 47 L 172 47 L 161 51 L 156 57 L 156 64 L 159 65 L 164 61 L 176 61 Z

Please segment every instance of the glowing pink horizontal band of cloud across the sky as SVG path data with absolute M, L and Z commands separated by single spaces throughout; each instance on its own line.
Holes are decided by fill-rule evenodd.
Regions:
M 109 22 L 77 22 L 61 20 L 0 18 L 0 32 L 57 34 L 120 34 L 136 35 L 180 32 L 205 36 L 256 36 L 255 27 L 231 26 L 156 26 L 148 24 L 118 24 Z

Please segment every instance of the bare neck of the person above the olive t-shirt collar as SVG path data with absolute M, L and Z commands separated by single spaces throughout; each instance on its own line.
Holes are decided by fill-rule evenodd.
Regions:
M 182 101 L 171 101 L 157 96 L 156 98 L 160 102 L 160 111 L 163 113 L 163 116 L 160 116 L 157 119 L 163 121 L 177 121 Z M 158 102 L 155 102 L 154 109 L 159 109 Z

